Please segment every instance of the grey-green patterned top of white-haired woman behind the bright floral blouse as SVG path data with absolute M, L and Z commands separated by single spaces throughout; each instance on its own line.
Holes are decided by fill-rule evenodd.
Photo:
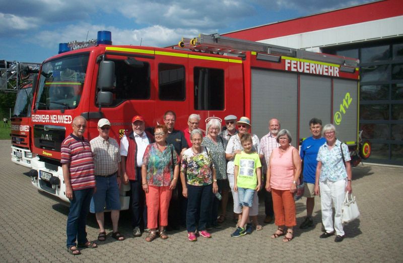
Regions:
M 221 137 L 217 136 L 217 143 L 215 143 L 209 137 L 203 138 L 201 145 L 209 148 L 211 156 L 213 157 L 213 163 L 216 167 L 217 180 L 227 179 L 227 161 L 225 160 L 224 142 Z

